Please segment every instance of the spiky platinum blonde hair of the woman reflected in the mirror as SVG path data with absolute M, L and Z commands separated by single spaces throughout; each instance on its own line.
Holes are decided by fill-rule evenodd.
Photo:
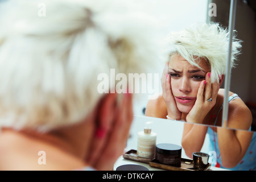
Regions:
M 196 23 L 184 31 L 171 32 L 168 38 L 172 55 L 178 54 L 191 65 L 198 68 L 199 61 L 206 60 L 211 69 L 211 81 L 219 81 L 224 75 L 228 61 L 229 31 L 218 23 Z M 231 68 L 234 67 L 237 55 L 240 54 L 241 41 L 234 36 L 232 43 Z M 201 68 L 200 68 L 201 69 Z

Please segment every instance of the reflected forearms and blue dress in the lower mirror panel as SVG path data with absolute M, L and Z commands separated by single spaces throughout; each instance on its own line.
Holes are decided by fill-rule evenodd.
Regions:
M 181 144 L 189 158 L 193 152 L 201 150 L 206 134 L 209 135 L 208 150 L 215 155 L 216 167 L 256 170 L 256 133 L 185 123 Z

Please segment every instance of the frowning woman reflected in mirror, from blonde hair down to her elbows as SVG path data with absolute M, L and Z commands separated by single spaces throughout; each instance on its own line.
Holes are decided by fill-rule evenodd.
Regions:
M 148 101 L 146 115 L 212 126 L 222 124 L 224 89 L 220 89 L 228 52 L 228 31 L 217 23 L 196 24 L 171 34 L 171 51 L 162 75 L 163 93 Z M 232 67 L 241 47 L 233 39 Z M 244 102 L 229 92 L 228 127 L 249 130 L 252 116 Z M 200 151 L 208 127 L 184 125 L 182 145 L 187 156 Z M 222 167 L 234 167 L 250 145 L 252 133 L 212 127 L 217 133 Z M 232 152 L 230 152 L 232 151 Z M 230 155 L 231 154 L 231 155 Z

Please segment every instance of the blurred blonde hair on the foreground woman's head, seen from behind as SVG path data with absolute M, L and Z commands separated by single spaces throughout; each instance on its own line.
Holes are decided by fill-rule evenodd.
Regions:
M 102 97 L 100 73 L 145 72 L 156 57 L 147 16 L 122 1 L 44 0 L 46 16 L 40 2 L 10 3 L 1 13 L 0 127 L 80 122 Z

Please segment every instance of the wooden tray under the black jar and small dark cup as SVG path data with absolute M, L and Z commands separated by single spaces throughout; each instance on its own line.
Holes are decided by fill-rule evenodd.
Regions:
M 166 164 L 160 164 L 158 163 L 155 159 L 149 162 L 151 167 L 156 167 L 156 168 L 161 168 L 161 169 L 166 169 L 170 171 L 207 171 L 210 169 L 210 164 L 207 164 L 207 167 L 204 169 L 195 169 L 193 168 L 193 160 L 191 159 L 184 159 L 181 158 L 181 165 L 180 167 L 175 167 L 175 166 L 170 166 Z

